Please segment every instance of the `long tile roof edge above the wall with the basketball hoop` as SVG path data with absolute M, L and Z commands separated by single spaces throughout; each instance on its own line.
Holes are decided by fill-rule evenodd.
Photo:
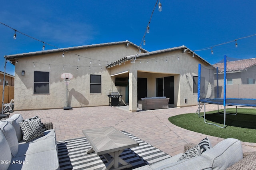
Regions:
M 44 50 L 44 51 L 19 53 L 19 54 L 7 55 L 6 57 L 17 58 L 17 57 L 24 57 L 24 56 L 28 56 L 28 55 L 38 55 L 38 54 L 45 54 L 45 53 L 53 53 L 53 52 L 60 52 L 60 51 L 69 51 L 69 50 L 74 50 L 74 49 L 83 49 L 83 48 L 90 48 L 90 47 L 125 44 L 125 43 L 130 43 L 130 45 L 134 45 L 136 48 L 139 48 L 138 45 L 126 40 L 126 41 L 121 41 L 121 42 L 98 43 L 98 44 L 92 44 L 92 45 L 82 45 L 82 46 L 76 46 L 76 47 L 66 47 L 66 48 L 58 48 L 58 49 L 48 49 L 48 50 Z M 143 48 L 141 48 L 141 50 L 148 52 L 146 49 L 143 49 Z

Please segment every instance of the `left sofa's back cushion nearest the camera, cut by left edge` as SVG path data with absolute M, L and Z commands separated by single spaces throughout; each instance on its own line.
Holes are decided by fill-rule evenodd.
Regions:
M 4 133 L 2 130 L 0 130 L 0 161 L 4 161 L 2 164 L 0 164 L 0 170 L 7 170 L 10 165 L 9 163 L 11 163 L 9 162 L 11 159 L 12 154 L 9 144 L 4 136 Z

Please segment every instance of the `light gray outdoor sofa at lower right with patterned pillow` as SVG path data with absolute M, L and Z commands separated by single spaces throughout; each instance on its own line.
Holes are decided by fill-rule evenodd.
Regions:
M 208 142 L 208 138 L 198 145 L 184 146 L 184 153 L 177 154 L 152 165 L 145 165 L 136 170 L 226 170 L 243 158 L 241 141 L 227 138 L 214 147 Z M 209 141 L 209 140 L 208 140 Z M 189 149 L 188 149 L 189 148 Z M 255 160 L 254 160 L 255 161 Z

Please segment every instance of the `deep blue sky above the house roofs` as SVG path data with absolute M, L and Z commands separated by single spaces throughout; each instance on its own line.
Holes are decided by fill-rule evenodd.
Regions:
M 146 34 L 148 51 L 186 45 L 192 51 L 256 34 L 255 0 L 160 0 Z M 140 45 L 156 0 L 8 0 L 1 2 L 0 22 L 56 47 L 129 40 Z M 35 41 L 0 24 L 0 71 L 4 55 L 41 51 Z M 224 55 L 255 58 L 256 36 L 196 51 L 214 64 Z M 45 45 L 45 49 L 54 49 Z M 121 56 L 122 57 L 122 56 Z M 120 58 L 121 58 L 120 57 Z M 14 75 L 7 63 L 6 73 Z

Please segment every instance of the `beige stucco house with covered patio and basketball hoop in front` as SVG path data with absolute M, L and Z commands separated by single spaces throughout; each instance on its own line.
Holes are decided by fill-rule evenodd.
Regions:
M 130 111 L 137 110 L 141 97 L 166 96 L 175 107 L 198 104 L 198 63 L 210 63 L 184 45 L 141 53 L 138 49 L 123 41 L 8 55 L 15 64 L 15 109 L 64 107 L 61 74 L 66 72 L 73 75 L 68 84 L 71 107 L 108 105 L 107 95 L 115 91 Z

